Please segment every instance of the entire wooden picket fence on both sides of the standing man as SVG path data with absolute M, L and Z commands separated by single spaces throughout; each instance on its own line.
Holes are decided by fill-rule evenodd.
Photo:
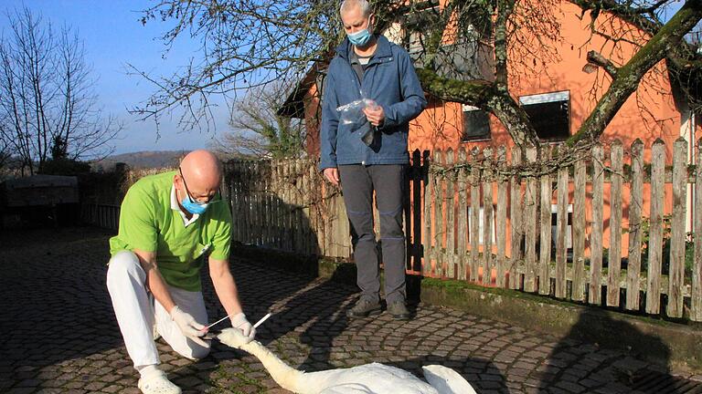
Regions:
M 505 148 L 435 150 L 431 157 L 415 151 L 406 183 L 408 269 L 702 321 L 702 243 L 692 242 L 702 239 L 702 151 L 697 144 L 697 166 L 688 166 L 687 146 L 675 142 L 672 167 L 660 140 L 650 147 L 650 164 L 638 140 L 626 152 L 614 141 L 606 155 L 595 146 L 568 165 L 548 161 L 558 148 L 526 150 L 525 157 Z M 316 162 L 229 161 L 225 177 L 235 241 L 351 255 L 343 197 Z M 687 269 L 686 245 L 694 248 Z

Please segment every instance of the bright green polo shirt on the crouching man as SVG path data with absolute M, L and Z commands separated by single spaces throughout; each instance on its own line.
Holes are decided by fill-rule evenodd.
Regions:
M 176 171 L 142 178 L 124 196 L 120 228 L 110 239 L 112 255 L 122 250 L 155 252 L 158 270 L 168 285 L 201 291 L 200 267 L 209 254 L 229 259 L 231 213 L 223 201 L 210 203 L 207 211 L 186 225 L 171 203 Z

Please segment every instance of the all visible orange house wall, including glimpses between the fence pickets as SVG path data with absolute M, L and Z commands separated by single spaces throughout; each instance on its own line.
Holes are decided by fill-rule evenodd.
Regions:
M 570 95 L 570 130 L 571 133 L 580 128 L 582 122 L 595 107 L 597 99 L 609 87 L 609 78 L 603 76 L 600 69 L 597 72 L 587 74 L 582 71 L 582 67 L 587 63 L 587 53 L 589 50 L 597 50 L 605 55 L 610 55 L 612 45 L 605 44 L 600 36 L 590 35 L 590 16 L 586 13 L 580 17 L 580 7 L 567 2 L 562 2 L 559 8 L 554 8 L 554 13 L 558 16 L 560 23 L 560 42 L 551 43 L 557 48 L 560 61 L 557 63 L 547 63 L 543 65 L 541 72 L 537 75 L 527 72 L 525 67 L 512 62 L 508 65 L 510 78 L 510 91 L 514 99 L 519 96 L 548 93 L 554 91 L 568 90 Z M 598 21 L 603 18 L 600 16 Z M 615 22 L 610 21 L 613 26 Z M 600 26 L 605 28 L 606 26 Z M 619 28 L 620 26 L 616 26 Z M 631 26 L 624 26 L 633 30 Z M 633 33 L 637 34 L 637 33 Z M 611 55 L 612 61 L 622 65 L 635 52 L 635 48 L 621 44 L 620 50 L 616 52 L 619 56 Z M 526 59 L 527 61 L 529 59 Z M 514 78 L 519 76 L 519 78 Z M 592 88 L 601 84 L 592 97 Z M 310 88 L 305 98 L 305 122 L 307 125 L 307 153 L 312 156 L 319 155 L 319 91 L 315 86 Z M 646 110 L 640 107 L 644 106 Z M 680 112 L 675 109 L 675 103 L 671 94 L 670 82 L 665 73 L 665 63 L 661 62 L 654 70 L 647 73 L 639 88 L 628 99 L 619 110 L 612 122 L 604 130 L 601 141 L 605 146 L 612 140 L 621 140 L 625 155 L 625 163 L 629 163 L 626 152 L 634 140 L 644 141 L 644 161 L 650 161 L 650 148 L 654 140 L 665 141 L 666 165 L 672 163 L 672 148 L 674 141 L 680 136 L 681 119 Z M 430 99 L 430 104 L 420 117 L 410 123 L 409 149 L 413 150 L 456 150 L 459 148 L 470 150 L 473 147 L 480 149 L 486 147 L 506 146 L 514 147 L 514 143 L 505 130 L 504 126 L 495 117 L 491 117 L 492 135 L 490 140 L 462 142 L 463 133 L 463 111 L 462 106 L 457 103 L 441 102 Z M 702 127 L 697 127 L 697 136 L 702 134 Z M 609 150 L 605 150 L 605 156 L 609 157 Z M 573 185 L 569 185 L 569 202 L 573 201 Z M 611 232 L 609 226 L 610 218 L 610 184 L 604 185 L 604 207 L 603 207 L 603 246 L 610 246 Z M 493 192 L 496 204 L 496 188 Z M 590 204 L 591 185 L 587 188 L 586 221 L 588 223 L 586 247 L 589 247 L 590 224 L 592 220 L 592 207 Z M 622 228 L 628 227 L 628 202 L 629 187 L 624 184 L 622 188 Z M 552 203 L 556 203 L 556 193 L 554 192 Z M 643 214 L 648 216 L 650 207 L 650 186 L 644 184 L 644 207 Z M 672 212 L 672 189 L 666 185 L 665 214 Z M 509 211 L 508 211 L 509 212 Z M 433 220 L 433 218 L 432 218 Z M 445 222 L 444 222 L 445 223 Z M 510 223 L 507 223 L 509 228 Z M 423 228 L 422 228 L 423 232 Z M 445 243 L 445 239 L 444 239 Z M 506 237 L 506 244 L 511 244 L 509 234 Z M 628 249 L 628 235 L 622 234 L 622 256 L 626 256 Z M 510 254 L 509 252 L 507 252 Z M 589 254 L 589 253 L 588 253 Z

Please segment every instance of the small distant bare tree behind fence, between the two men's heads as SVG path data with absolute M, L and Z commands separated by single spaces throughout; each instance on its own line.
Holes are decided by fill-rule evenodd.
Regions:
M 278 113 L 289 89 L 281 83 L 251 88 L 234 103 L 229 126 L 214 144 L 225 157 L 295 158 L 303 152 L 305 130 L 300 119 Z

